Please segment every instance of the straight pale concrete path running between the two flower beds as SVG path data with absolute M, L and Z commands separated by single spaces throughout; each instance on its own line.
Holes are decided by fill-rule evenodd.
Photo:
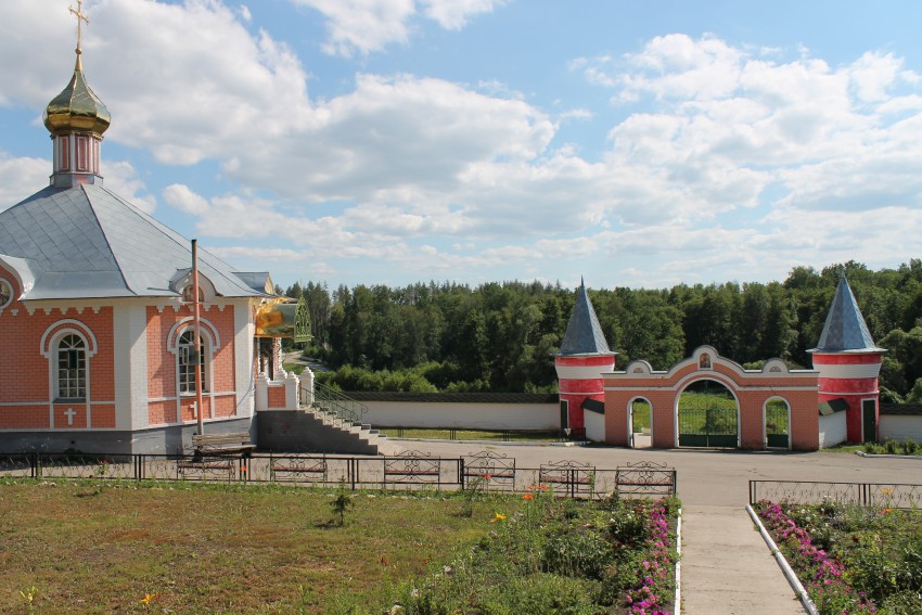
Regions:
M 803 615 L 745 509 L 682 510 L 682 613 Z

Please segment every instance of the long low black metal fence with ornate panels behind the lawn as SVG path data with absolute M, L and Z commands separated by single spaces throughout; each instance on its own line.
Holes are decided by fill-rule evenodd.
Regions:
M 640 473 L 638 473 L 638 471 Z M 651 481 L 651 476 L 656 476 Z M 624 489 L 631 496 L 675 494 L 675 469 L 599 470 L 563 461 L 516 467 L 515 459 L 492 451 L 438 458 L 410 451 L 394 457 L 302 453 L 53 454 L 0 453 L 0 478 L 92 481 L 200 481 L 219 483 L 345 486 L 350 489 L 528 490 L 546 485 L 558 496 L 602 498 Z M 666 481 L 667 487 L 662 487 Z M 657 483 L 657 489 L 637 489 Z M 649 487 L 650 485 L 648 485 Z

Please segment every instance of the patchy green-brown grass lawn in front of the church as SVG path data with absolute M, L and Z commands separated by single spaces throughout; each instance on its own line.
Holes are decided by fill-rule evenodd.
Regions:
M 31 588 L 36 613 L 380 613 L 394 585 L 483 538 L 495 508 L 356 492 L 338 527 L 334 496 L 0 481 L 0 613 L 28 613 Z

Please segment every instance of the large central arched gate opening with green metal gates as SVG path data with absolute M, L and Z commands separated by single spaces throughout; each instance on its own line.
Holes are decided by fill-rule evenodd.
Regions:
M 740 403 L 723 384 L 690 383 L 676 402 L 679 447 L 739 448 Z

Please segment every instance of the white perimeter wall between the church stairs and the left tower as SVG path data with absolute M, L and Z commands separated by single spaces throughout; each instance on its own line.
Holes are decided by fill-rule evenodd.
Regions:
M 556 403 L 430 403 L 362 401 L 364 422 L 375 427 L 559 430 Z

